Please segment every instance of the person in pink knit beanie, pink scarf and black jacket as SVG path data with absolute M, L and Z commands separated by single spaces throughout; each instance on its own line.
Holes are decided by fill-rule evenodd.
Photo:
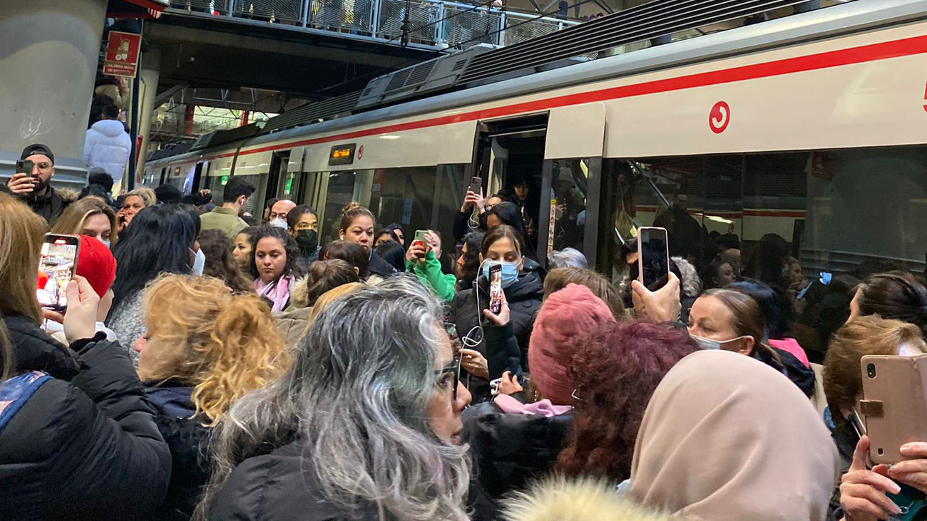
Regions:
M 485 314 L 489 318 L 484 327 L 489 361 L 482 377 L 502 378 L 500 395 L 464 412 L 464 441 L 470 445 L 480 486 L 491 498 L 500 498 L 552 470 L 573 420 L 577 389 L 584 388 L 590 377 L 576 370 L 574 360 L 592 338 L 602 337 L 616 321 L 608 306 L 586 286 L 569 285 L 553 293 L 540 307 L 531 333 L 527 358 L 530 382 L 537 393 L 526 396 L 519 393 L 523 386 L 509 367 L 517 367 L 520 359 L 517 342 L 510 342 L 514 362 L 507 362 L 513 357 L 496 340 L 511 338 L 508 324 L 513 306 L 503 302 L 498 315 L 489 310 Z M 502 352 L 493 352 L 497 345 Z M 469 369 L 468 373 L 473 375 Z

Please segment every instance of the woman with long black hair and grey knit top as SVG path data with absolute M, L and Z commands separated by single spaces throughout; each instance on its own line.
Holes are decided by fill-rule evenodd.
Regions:
M 116 281 L 107 325 L 116 333 L 133 362 L 131 348 L 145 333 L 142 301 L 146 284 L 160 273 L 193 273 L 197 265 L 197 212 L 187 205 L 152 206 L 133 216 L 113 248 Z

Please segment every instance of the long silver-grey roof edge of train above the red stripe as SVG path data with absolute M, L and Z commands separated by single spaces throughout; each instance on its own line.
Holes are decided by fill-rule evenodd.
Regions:
M 792 4 L 794 3 L 792 2 Z M 227 152 L 233 143 L 236 146 L 245 142 L 248 143 L 248 146 L 260 146 L 307 134 L 333 133 L 349 127 L 407 118 L 436 110 L 465 107 L 487 99 L 528 95 L 554 88 L 592 83 L 654 70 L 664 70 L 681 65 L 691 65 L 721 57 L 743 55 L 787 44 L 805 43 L 847 33 L 878 29 L 927 18 L 927 12 L 923 9 L 923 4 L 923 0 L 856 0 L 840 6 L 825 7 L 723 32 L 705 34 L 670 44 L 656 45 L 625 54 L 582 61 L 565 67 L 555 67 L 550 70 L 503 79 L 502 81 L 487 83 L 486 79 L 482 78 L 480 79 L 482 84 L 462 90 L 439 91 L 419 99 L 324 120 L 323 113 L 325 111 L 339 110 L 340 112 L 337 113 L 344 114 L 349 112 L 349 106 L 352 104 L 356 108 L 358 101 L 362 98 L 362 93 L 350 93 L 349 95 L 338 96 L 331 100 L 313 103 L 289 111 L 289 113 L 302 111 L 304 119 L 298 126 L 279 130 L 281 127 L 279 121 L 274 123 L 274 119 L 272 119 L 267 122 L 263 130 L 249 128 L 254 127 L 254 125 L 248 125 L 248 127 L 243 127 L 243 129 L 248 129 L 246 131 L 240 129 L 219 131 L 219 134 L 227 133 L 226 136 L 223 138 L 222 136 L 216 137 L 207 134 L 210 135 L 209 139 L 201 138 L 199 140 L 204 146 L 178 147 L 175 152 L 171 151 L 172 153 L 159 150 L 149 156 L 148 162 L 161 164 L 193 161 L 207 156 L 214 156 L 220 150 Z M 560 33 L 578 31 L 580 27 L 566 29 Z M 502 50 L 504 48 L 495 51 L 490 50 L 489 52 L 485 49 L 468 49 L 462 51 L 462 53 L 471 53 L 471 56 L 467 57 L 467 59 L 472 60 L 474 57 L 489 56 Z M 460 54 L 439 57 L 436 60 L 449 60 Z M 421 64 L 414 67 L 419 66 Z M 401 72 L 401 70 L 397 72 Z M 391 74 L 395 74 L 395 72 Z M 371 83 L 383 83 L 382 78 L 389 78 L 391 74 L 377 78 Z M 324 105 L 317 107 L 320 104 Z M 298 115 L 287 116 L 287 114 L 281 114 L 277 118 L 286 116 L 290 121 L 298 120 Z M 230 139 L 233 137 L 234 139 Z

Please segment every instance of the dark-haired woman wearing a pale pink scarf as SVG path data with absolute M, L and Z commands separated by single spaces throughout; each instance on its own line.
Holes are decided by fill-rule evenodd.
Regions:
M 285 228 L 265 224 L 254 235 L 251 251 L 252 286 L 259 297 L 270 302 L 272 311 L 286 310 L 290 291 L 303 274 L 296 241 Z

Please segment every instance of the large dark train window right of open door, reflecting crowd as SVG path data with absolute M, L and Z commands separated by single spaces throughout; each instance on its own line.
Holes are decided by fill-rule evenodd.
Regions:
M 603 171 L 603 273 L 623 280 L 620 246 L 633 226 L 664 226 L 671 253 L 689 261 L 705 286 L 724 284 L 724 271 L 776 288 L 793 307 L 791 333 L 813 361 L 863 277 L 922 276 L 927 268 L 923 147 L 606 159 Z

